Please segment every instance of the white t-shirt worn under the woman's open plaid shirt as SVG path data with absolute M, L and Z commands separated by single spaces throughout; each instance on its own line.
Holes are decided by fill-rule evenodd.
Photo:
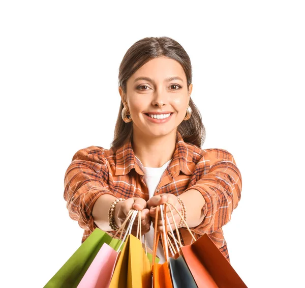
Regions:
M 155 190 L 160 182 L 163 172 L 166 170 L 167 166 L 169 165 L 172 159 L 167 161 L 162 167 L 144 167 L 137 156 L 135 156 L 135 159 L 144 172 L 144 182 L 148 187 L 149 198 L 151 198 L 154 196 Z M 151 223 L 150 230 L 146 233 L 146 244 L 147 247 L 149 247 L 151 250 L 153 250 L 153 246 L 154 246 L 154 232 L 155 230 L 153 227 L 153 223 Z M 160 264 L 164 263 L 165 257 L 160 242 L 158 243 L 157 255 L 160 258 L 159 263 Z

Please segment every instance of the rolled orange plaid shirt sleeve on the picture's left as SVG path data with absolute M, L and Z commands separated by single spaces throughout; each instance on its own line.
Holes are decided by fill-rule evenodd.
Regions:
M 83 229 L 91 232 L 97 227 L 92 217 L 95 201 L 103 194 L 111 194 L 108 167 L 101 148 L 90 146 L 77 151 L 65 174 L 64 199 L 69 216 Z

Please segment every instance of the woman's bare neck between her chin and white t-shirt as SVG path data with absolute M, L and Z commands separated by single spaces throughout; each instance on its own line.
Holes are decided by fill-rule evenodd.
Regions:
M 173 158 L 176 129 L 167 135 L 147 137 L 133 130 L 132 147 L 144 167 L 162 167 Z

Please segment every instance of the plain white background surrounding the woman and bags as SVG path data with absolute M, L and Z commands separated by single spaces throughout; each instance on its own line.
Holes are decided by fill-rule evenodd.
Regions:
M 148 36 L 185 48 L 203 148 L 228 150 L 241 171 L 231 265 L 249 287 L 303 285 L 301 3 L 1 2 L 0 286 L 42 287 L 79 247 L 65 171 L 77 150 L 109 149 L 120 61 Z

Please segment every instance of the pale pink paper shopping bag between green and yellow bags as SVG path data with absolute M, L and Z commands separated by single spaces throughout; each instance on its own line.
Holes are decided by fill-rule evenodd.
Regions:
M 77 288 L 107 288 L 114 271 L 118 252 L 104 243 Z

